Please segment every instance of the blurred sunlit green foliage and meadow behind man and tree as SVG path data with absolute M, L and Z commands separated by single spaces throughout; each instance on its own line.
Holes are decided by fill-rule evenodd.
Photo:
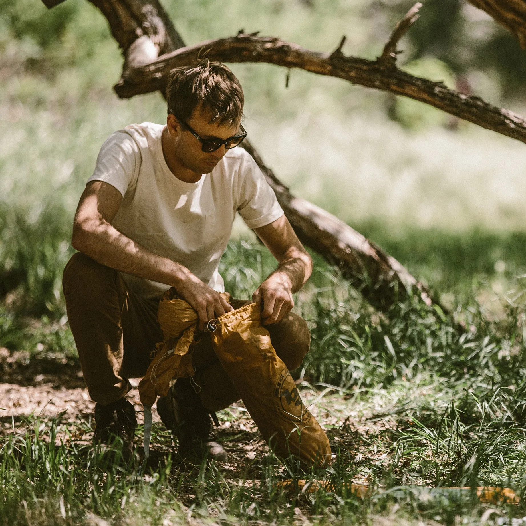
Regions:
M 374 58 L 412 2 L 163 4 L 188 44 L 244 28 L 328 51 L 346 34 L 345 53 Z M 399 64 L 413 74 L 526 107 L 524 52 L 467 2 L 424 2 L 401 47 Z M 46 345 L 73 346 L 60 278 L 78 197 L 110 133 L 166 114 L 158 93 L 115 96 L 121 67 L 106 20 L 85 0 L 49 11 L 37 0 L 0 0 L 2 345 L 36 346 L 51 331 Z M 232 69 L 245 89 L 250 137 L 292 191 L 379 242 L 453 310 L 482 302 L 502 315 L 495 298 L 526 268 L 522 144 L 339 79 L 294 70 L 286 88 L 278 67 Z M 252 239 L 241 222 L 235 239 L 234 248 Z M 321 260 L 319 267 L 329 271 Z M 32 339 L 28 326 L 38 328 Z

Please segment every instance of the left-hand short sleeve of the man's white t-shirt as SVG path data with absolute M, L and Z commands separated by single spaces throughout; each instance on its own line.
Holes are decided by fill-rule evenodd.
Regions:
M 95 171 L 87 182 L 104 181 L 124 197 L 126 190 L 137 183 L 140 163 L 139 146 L 133 137 L 125 131 L 116 131 L 100 148 Z

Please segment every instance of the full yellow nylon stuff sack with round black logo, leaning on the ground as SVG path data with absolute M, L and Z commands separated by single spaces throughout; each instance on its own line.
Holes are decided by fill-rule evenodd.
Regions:
M 327 466 L 329 440 L 276 355 L 259 305 L 227 312 L 217 321 L 211 333 L 214 351 L 263 438 L 280 456 L 292 454 L 304 466 Z

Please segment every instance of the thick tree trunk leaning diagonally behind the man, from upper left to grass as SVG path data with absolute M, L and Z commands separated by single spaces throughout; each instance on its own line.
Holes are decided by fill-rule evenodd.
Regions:
M 140 77 L 140 72 L 145 67 L 157 64 L 156 59 L 159 54 L 164 54 L 161 57 L 162 61 L 171 57 L 175 49 L 184 46 L 163 7 L 157 0 L 89 1 L 106 16 L 112 34 L 123 50 L 125 57 L 123 78 L 126 78 L 126 89 L 130 90 L 127 96 L 156 90 L 160 90 L 164 95 L 166 75 L 171 69 L 169 66 L 161 73 L 152 72 L 148 77 L 148 88 L 143 85 L 142 91 L 136 91 L 133 80 L 136 75 Z M 242 40 L 243 37 L 246 35 L 235 38 Z M 186 49 L 194 48 L 195 46 Z M 197 53 L 193 56 L 196 57 Z M 333 54 L 333 60 L 337 61 L 340 58 L 339 53 Z M 186 63 L 181 62 L 181 64 Z M 118 92 L 118 94 L 122 96 L 122 93 Z M 353 285 L 362 292 L 371 305 L 387 311 L 414 289 L 427 305 L 431 305 L 430 294 L 426 288 L 395 258 L 388 256 L 380 247 L 337 217 L 304 199 L 293 196 L 272 170 L 263 163 L 256 149 L 247 140 L 242 146 L 254 157 L 265 174 L 301 241 L 318 252 L 330 264 L 339 267 L 342 275 L 352 280 Z

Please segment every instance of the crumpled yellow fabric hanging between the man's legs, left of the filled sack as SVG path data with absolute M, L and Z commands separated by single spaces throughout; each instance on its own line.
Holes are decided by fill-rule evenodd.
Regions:
M 221 296 L 227 301 L 230 299 L 227 293 Z M 199 321 L 197 312 L 172 288 L 159 302 L 157 321 L 164 339 L 157 344 L 155 357 L 139 382 L 143 406 L 152 406 L 158 396 L 166 396 L 171 380 L 194 375 L 191 347 Z

